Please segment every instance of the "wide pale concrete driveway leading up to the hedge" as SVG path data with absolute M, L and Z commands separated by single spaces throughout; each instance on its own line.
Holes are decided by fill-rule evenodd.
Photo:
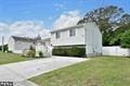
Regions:
M 27 78 L 86 60 L 88 59 L 52 57 L 0 65 L 0 82 L 14 82 L 15 86 L 36 86 Z

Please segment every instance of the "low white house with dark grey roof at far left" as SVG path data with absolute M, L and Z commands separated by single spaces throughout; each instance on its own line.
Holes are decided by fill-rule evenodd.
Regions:
M 9 38 L 9 51 L 22 53 L 24 50 L 28 50 L 30 46 L 36 46 L 36 39 L 17 36 L 11 36 Z

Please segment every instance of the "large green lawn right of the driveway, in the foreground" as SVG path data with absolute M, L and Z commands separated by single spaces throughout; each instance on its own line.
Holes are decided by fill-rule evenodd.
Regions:
M 130 59 L 92 58 L 30 81 L 40 86 L 130 86 Z

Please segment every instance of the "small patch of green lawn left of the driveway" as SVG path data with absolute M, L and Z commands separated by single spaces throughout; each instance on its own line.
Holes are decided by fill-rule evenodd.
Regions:
M 16 54 L 16 53 L 0 52 L 0 64 L 26 61 L 26 60 L 30 60 L 30 59 L 31 58 L 25 58 L 25 57 L 22 57 L 21 54 Z

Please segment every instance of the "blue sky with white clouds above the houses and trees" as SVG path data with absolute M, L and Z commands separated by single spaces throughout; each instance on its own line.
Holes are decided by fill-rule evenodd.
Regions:
M 130 13 L 130 0 L 0 0 L 0 44 L 12 35 L 49 37 L 49 32 L 75 25 L 94 9 L 118 5 Z

